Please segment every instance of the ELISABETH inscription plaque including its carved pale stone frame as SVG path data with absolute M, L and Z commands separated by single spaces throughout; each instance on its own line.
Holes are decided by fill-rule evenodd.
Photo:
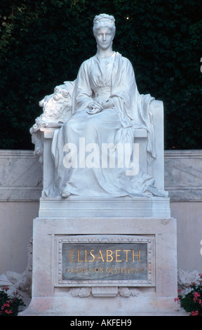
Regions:
M 58 238 L 58 284 L 152 285 L 154 237 Z

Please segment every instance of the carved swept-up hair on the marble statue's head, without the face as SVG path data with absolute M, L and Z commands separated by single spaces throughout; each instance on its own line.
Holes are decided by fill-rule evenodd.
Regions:
M 108 29 L 112 30 L 113 35 L 115 35 L 116 27 L 115 27 L 115 19 L 114 16 L 108 14 L 100 14 L 95 16 L 93 20 L 93 34 L 96 36 L 97 30 L 102 27 L 108 27 Z

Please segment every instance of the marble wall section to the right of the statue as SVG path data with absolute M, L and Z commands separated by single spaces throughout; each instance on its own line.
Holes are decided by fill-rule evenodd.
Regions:
M 202 150 L 165 152 L 165 185 L 177 219 L 177 256 L 182 270 L 202 270 Z

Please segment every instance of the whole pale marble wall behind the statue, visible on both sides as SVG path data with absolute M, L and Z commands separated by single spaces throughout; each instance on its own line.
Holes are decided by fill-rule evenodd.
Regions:
M 177 219 L 178 266 L 202 271 L 202 150 L 165 152 L 165 189 Z M 0 275 L 24 272 L 32 220 L 38 216 L 42 169 L 32 151 L 0 150 Z M 2 251 L 4 251 L 2 253 Z

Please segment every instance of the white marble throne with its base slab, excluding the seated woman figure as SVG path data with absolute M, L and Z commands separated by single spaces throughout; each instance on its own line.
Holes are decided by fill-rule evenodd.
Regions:
M 67 200 L 62 197 L 48 197 L 47 190 L 54 180 L 54 164 L 51 157 L 51 143 L 58 130 L 72 116 L 72 95 L 74 81 L 65 81 L 56 86 L 53 94 L 46 95 L 39 102 L 42 114 L 36 118 L 30 129 L 34 154 L 43 166 L 43 191 L 40 199 L 39 216 L 170 216 L 170 199 L 164 190 L 164 144 L 163 144 L 163 102 L 152 100 L 150 111 L 154 124 L 156 159 L 150 161 L 147 152 L 147 131 L 136 129 L 134 141 L 139 145 L 140 168 L 155 179 L 155 186 L 163 197 L 76 197 Z M 121 202 L 121 204 L 120 204 Z M 57 210 L 57 211 L 56 211 Z M 56 213 L 55 213 L 56 212 Z M 121 212 L 121 213 L 120 213 Z

